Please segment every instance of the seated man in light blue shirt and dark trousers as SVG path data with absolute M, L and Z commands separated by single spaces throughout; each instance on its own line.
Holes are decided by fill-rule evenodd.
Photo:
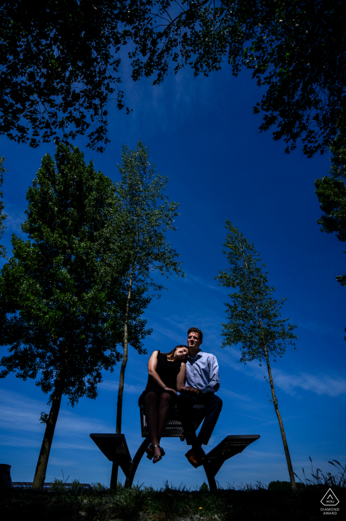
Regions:
M 208 444 L 222 408 L 222 400 L 215 395 L 220 387 L 219 365 L 214 355 L 204 353 L 200 349 L 202 339 L 203 334 L 200 329 L 191 327 L 188 330 L 189 356 L 186 361 L 186 382 L 185 386 L 181 388 L 182 394 L 177 399 L 186 443 L 192 445 L 185 456 L 195 468 L 207 460 L 206 453 L 202 450 L 202 444 Z M 196 436 L 190 412 L 190 407 L 195 404 L 204 405 L 206 410 L 198 436 Z

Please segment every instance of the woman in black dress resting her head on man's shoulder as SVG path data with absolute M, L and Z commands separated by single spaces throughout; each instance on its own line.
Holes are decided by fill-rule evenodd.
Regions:
M 175 405 L 177 390 L 184 386 L 188 355 L 187 345 L 177 345 L 169 353 L 154 351 L 148 363 L 148 383 L 139 396 L 138 404 L 145 405 L 145 417 L 149 427 L 151 446 L 148 458 L 157 463 L 164 456 L 160 439 L 167 425 L 170 407 Z

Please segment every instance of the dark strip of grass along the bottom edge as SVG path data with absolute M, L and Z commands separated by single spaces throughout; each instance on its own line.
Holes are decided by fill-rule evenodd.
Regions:
M 206 483 L 187 490 L 168 482 L 160 490 L 144 486 L 129 490 L 118 483 L 114 492 L 101 483 L 82 489 L 75 481 L 74 489 L 66 491 L 63 481 L 55 480 L 49 491 L 3 490 L 0 511 L 4 521 L 314 521 L 321 519 L 320 501 L 330 486 L 340 501 L 338 513 L 343 513 L 346 469 L 334 462 L 337 474 L 312 468 L 311 477 L 304 474 L 296 494 L 286 481 L 272 481 L 268 487 L 260 482 L 229 486 L 211 493 Z

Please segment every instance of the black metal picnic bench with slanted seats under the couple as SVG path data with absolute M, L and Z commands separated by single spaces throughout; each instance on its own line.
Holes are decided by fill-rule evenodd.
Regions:
M 142 438 L 145 438 L 143 443 L 139 446 L 133 460 L 127 443 L 125 435 L 123 434 L 91 434 L 91 439 L 96 443 L 100 451 L 111 461 L 112 474 L 110 480 L 110 487 L 117 487 L 118 467 L 121 467 L 126 476 L 125 487 L 132 487 L 132 483 L 136 474 L 137 467 L 140 460 L 145 453 L 145 450 L 150 445 L 149 429 L 146 423 L 144 414 L 144 406 L 139 407 L 140 411 L 140 428 L 142 431 Z M 193 415 L 193 422 L 197 430 L 204 419 L 204 405 L 193 405 L 191 407 L 191 414 Z M 168 424 L 165 428 L 162 438 L 180 438 L 184 441 L 184 431 L 182 423 L 178 417 L 177 406 L 172 410 Z M 235 454 L 239 454 L 250 445 L 253 441 L 260 438 L 259 435 L 239 435 L 226 436 L 218 445 L 214 447 L 207 454 L 207 462 L 203 464 L 207 475 L 209 489 L 216 490 L 215 476 L 226 460 Z

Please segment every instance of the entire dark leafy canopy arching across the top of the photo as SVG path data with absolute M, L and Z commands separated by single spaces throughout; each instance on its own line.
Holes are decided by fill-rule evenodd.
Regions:
M 106 104 L 133 80 L 170 67 L 208 76 L 226 60 L 263 86 L 260 131 L 312 156 L 346 134 L 343 0 L 71 0 L 3 2 L 0 132 L 37 146 L 61 132 L 107 143 Z M 129 100 L 131 103 L 131 100 Z

